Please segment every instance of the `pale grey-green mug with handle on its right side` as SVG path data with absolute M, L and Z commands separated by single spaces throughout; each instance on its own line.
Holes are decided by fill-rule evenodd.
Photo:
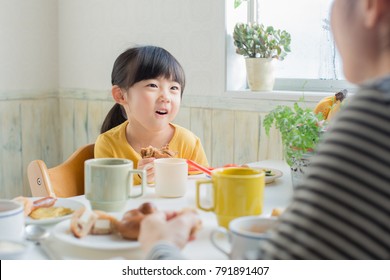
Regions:
M 133 168 L 133 161 L 122 158 L 95 158 L 86 160 L 85 197 L 90 201 L 92 209 L 107 212 L 121 211 L 128 198 L 143 195 L 146 182 L 146 171 Z M 140 174 L 142 184 L 136 195 L 133 175 Z

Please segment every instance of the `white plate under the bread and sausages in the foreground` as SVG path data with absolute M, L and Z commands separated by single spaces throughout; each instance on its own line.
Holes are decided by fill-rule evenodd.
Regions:
M 117 234 L 109 235 L 87 235 L 83 238 L 77 238 L 70 231 L 70 221 L 62 221 L 53 229 L 55 238 L 78 247 L 99 250 L 128 250 L 139 248 L 137 241 L 126 240 Z

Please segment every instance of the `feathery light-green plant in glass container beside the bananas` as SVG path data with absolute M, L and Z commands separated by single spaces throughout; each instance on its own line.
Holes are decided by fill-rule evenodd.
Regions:
M 293 107 L 279 105 L 269 112 L 263 121 L 266 134 L 272 125 L 282 137 L 285 159 L 291 168 L 293 185 L 305 173 L 310 157 L 319 142 L 325 127 L 321 125 L 322 114 L 315 114 L 310 108 L 303 108 L 297 102 Z

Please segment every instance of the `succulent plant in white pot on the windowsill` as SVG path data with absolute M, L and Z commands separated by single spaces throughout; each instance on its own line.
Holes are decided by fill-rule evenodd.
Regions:
M 290 34 L 263 24 L 237 23 L 233 40 L 236 53 L 245 57 L 251 90 L 272 90 L 275 82 L 273 61 L 283 60 L 290 52 Z

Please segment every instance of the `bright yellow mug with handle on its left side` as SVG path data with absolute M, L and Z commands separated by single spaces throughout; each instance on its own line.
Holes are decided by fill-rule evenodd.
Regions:
M 264 171 L 229 167 L 215 169 L 211 180 L 196 182 L 196 205 L 217 215 L 218 224 L 228 228 L 229 222 L 242 216 L 260 215 L 264 203 Z M 201 185 L 212 184 L 213 205 L 201 205 Z

